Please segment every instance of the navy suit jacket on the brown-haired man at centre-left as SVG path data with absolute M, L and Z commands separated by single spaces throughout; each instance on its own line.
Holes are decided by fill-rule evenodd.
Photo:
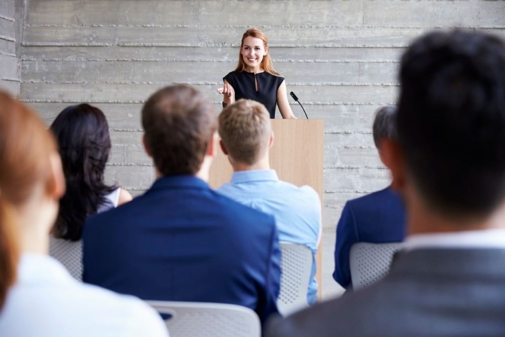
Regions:
M 280 250 L 273 217 L 191 175 L 89 218 L 83 280 L 144 300 L 238 304 L 277 312 Z

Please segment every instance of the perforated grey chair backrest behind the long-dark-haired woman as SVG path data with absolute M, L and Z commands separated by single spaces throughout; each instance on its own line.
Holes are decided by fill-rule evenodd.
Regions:
M 49 255 L 60 261 L 76 280 L 82 280 L 82 240 L 73 242 L 49 235 Z

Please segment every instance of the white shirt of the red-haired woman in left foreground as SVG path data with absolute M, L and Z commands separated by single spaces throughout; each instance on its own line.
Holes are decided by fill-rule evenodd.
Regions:
M 2 337 L 166 337 L 156 311 L 132 296 L 72 278 L 55 259 L 25 254 L 0 311 Z

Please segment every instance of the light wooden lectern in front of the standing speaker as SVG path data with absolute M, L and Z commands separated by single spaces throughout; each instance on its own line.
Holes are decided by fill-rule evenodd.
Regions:
M 312 186 L 319 194 L 323 207 L 323 138 L 324 121 L 320 119 L 273 119 L 274 146 L 270 153 L 270 166 L 277 171 L 279 179 L 297 186 Z M 229 182 L 233 169 L 228 157 L 218 150 L 211 167 L 209 183 L 217 188 Z M 289 196 L 286 196 L 289 198 Z M 316 279 L 321 300 L 322 245 L 319 244 Z

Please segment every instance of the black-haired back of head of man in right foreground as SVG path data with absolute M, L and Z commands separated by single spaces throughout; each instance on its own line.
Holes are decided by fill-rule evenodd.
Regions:
M 464 31 L 416 40 L 400 71 L 398 136 L 431 209 L 485 217 L 505 196 L 505 44 Z

